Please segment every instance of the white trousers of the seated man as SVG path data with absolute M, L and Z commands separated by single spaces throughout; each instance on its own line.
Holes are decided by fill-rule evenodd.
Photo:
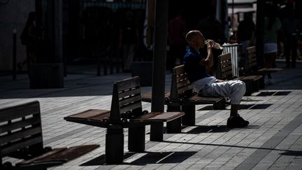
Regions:
M 199 91 L 204 97 L 222 96 L 229 97 L 231 104 L 240 104 L 245 94 L 245 83 L 241 80 L 228 80 L 222 83 L 207 84 Z

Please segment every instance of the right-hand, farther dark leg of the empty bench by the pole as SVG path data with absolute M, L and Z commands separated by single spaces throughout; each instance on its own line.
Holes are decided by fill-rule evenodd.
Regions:
M 145 150 L 145 126 L 129 127 L 128 150 L 130 152 L 143 152 Z

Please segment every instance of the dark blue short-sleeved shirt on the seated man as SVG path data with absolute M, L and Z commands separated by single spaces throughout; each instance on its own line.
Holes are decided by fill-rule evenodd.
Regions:
M 185 64 L 185 71 L 187 72 L 190 83 L 194 83 L 194 81 L 202 78 L 210 77 L 206 71 L 206 66 L 199 64 L 201 59 L 205 58 L 203 56 L 206 55 L 201 55 L 199 51 L 196 51 L 193 48 L 187 48 L 185 56 L 183 57 L 183 63 Z

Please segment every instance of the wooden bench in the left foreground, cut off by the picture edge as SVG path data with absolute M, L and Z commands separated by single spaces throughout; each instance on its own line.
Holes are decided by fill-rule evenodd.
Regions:
M 79 157 L 99 145 L 43 148 L 38 101 L 0 109 L 0 169 L 47 169 Z M 13 165 L 3 157 L 23 159 Z

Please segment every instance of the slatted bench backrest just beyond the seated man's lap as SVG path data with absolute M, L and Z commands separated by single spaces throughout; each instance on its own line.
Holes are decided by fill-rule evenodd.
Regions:
M 216 77 L 221 80 L 233 79 L 231 53 L 218 56 Z

